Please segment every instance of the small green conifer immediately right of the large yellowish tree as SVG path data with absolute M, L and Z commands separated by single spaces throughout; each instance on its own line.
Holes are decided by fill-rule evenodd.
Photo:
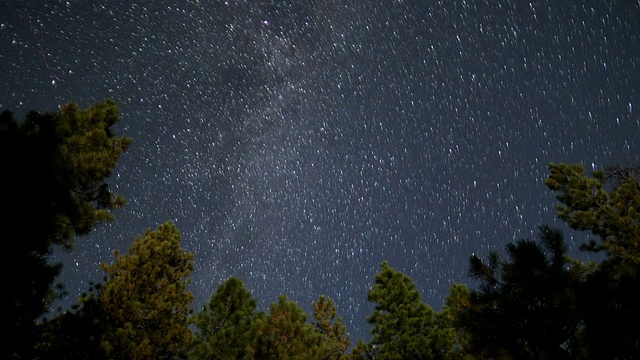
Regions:
M 225 281 L 196 315 L 191 359 L 245 359 L 256 335 L 256 300 L 242 280 Z

